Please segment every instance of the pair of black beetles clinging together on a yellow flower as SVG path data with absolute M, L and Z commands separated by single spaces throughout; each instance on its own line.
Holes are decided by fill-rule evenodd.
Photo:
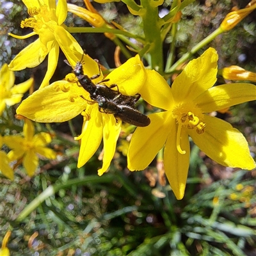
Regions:
M 99 104 L 99 109 L 102 109 L 104 113 L 113 114 L 115 118 L 120 118 L 124 122 L 140 127 L 150 124 L 150 118 L 135 109 L 140 94 L 131 97 L 120 93 L 116 84 L 111 84 L 109 87 L 106 84 L 100 84 L 108 80 L 102 80 L 99 84 L 94 84 L 92 80 L 99 77 L 100 72 L 92 77 L 84 75 L 81 61 L 77 61 L 74 74 L 84 90 L 90 93 L 90 98 Z M 117 88 L 117 90 L 112 88 Z

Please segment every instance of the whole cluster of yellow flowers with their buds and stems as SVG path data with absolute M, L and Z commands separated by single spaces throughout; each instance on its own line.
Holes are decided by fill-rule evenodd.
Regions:
M 15 56 L 8 68 L 22 70 L 27 67 L 36 67 L 47 55 L 48 68 L 40 89 L 22 101 L 17 108 L 17 114 L 26 116 L 35 122 L 45 123 L 65 122 L 77 115 L 82 115 L 81 134 L 75 138 L 75 140 L 81 141 L 78 168 L 88 162 L 103 140 L 104 155 L 102 168 L 98 170 L 98 174 L 102 175 L 108 171 L 115 154 L 116 141 L 122 129 L 122 119 L 129 120 L 131 118 L 131 116 L 125 115 L 140 116 L 131 102 L 122 102 L 121 99 L 123 97 L 135 102 L 136 95 L 141 95 L 143 100 L 157 110 L 148 115 L 150 124 L 146 127 L 138 127 L 132 135 L 127 153 L 129 170 L 144 170 L 152 163 L 159 150 L 164 148 L 163 163 L 166 177 L 177 199 L 182 199 L 189 170 L 189 138 L 217 163 L 246 170 L 255 168 L 255 161 L 250 155 L 248 143 L 243 134 L 226 121 L 209 114 L 212 111 L 256 100 L 255 85 L 229 83 L 214 86 L 217 80 L 218 54 L 211 47 L 199 58 L 189 61 L 173 81 L 172 88 L 164 79 L 164 77 L 170 78 L 170 72 L 173 72 L 180 63 L 184 63 L 192 54 L 211 42 L 214 36 L 236 26 L 239 20 L 256 8 L 254 3 L 241 12 L 230 13 L 231 17 L 238 15 L 239 19 L 234 20 L 230 18 L 230 15 L 227 16 L 221 23 L 218 33 L 205 38 L 204 42 L 196 45 L 188 54 L 184 54 L 177 63 L 166 65 L 164 68 L 164 38 L 170 29 L 175 28 L 173 24 L 179 22 L 182 9 L 190 1 L 173 1 L 170 12 L 164 17 L 159 17 L 157 8 L 163 4 L 162 0 L 141 1 L 140 5 L 135 1 L 123 1 L 133 15 L 141 17 L 144 36 L 131 35 L 118 24 L 107 22 L 93 8 L 90 1 L 84 1 L 87 9 L 67 4 L 66 0 L 58 1 L 57 5 L 55 1 L 50 0 L 22 1 L 26 4 L 30 17 L 22 21 L 21 26 L 22 28 L 33 28 L 33 33 L 27 36 L 10 35 L 20 39 L 33 35 L 38 35 L 39 38 Z M 95 27 L 92 29 L 104 33 L 113 40 L 120 46 L 128 60 L 104 77 L 102 72 L 99 72 L 98 63 L 84 54 L 79 43 L 70 35 L 73 32 L 86 32 L 86 28 L 84 30 L 83 28 L 81 30 L 67 28 L 64 24 L 67 12 L 72 12 L 81 19 L 87 20 Z M 243 17 L 240 13 L 243 13 Z M 127 39 L 131 37 L 136 43 Z M 121 41 L 129 47 L 124 47 L 120 43 Z M 60 49 L 64 52 L 71 67 L 75 67 L 77 61 L 78 63 L 81 61 L 83 74 L 81 73 L 79 76 L 68 74 L 65 79 L 49 84 L 57 67 Z M 132 57 L 128 49 L 132 49 L 138 54 Z M 142 57 L 147 60 L 147 68 L 141 61 Z M 172 56 L 170 56 L 168 63 L 170 64 L 172 61 Z M 6 70 L 7 66 L 3 68 Z M 97 75 L 98 73 L 99 75 Z M 236 76 L 233 76 L 234 73 Z M 255 81 L 253 80 L 255 77 L 252 79 L 252 73 L 246 73 L 246 70 L 239 68 L 230 68 L 229 70 L 224 68 L 222 74 L 227 79 L 239 80 L 239 77 L 243 77 L 243 80 Z M 247 75 L 245 76 L 245 74 Z M 93 94 L 83 87 L 82 82 L 92 87 L 95 84 L 102 86 L 100 88 L 107 86 L 111 90 L 108 92 L 116 97 L 112 99 L 108 93 L 100 94 L 98 89 Z M 6 86 L 6 88 L 10 90 L 10 86 Z M 10 95 L 7 93 L 4 93 L 4 96 L 1 95 L 1 100 L 5 99 L 1 103 L 1 109 L 4 109 L 3 102 L 11 105 L 10 100 L 6 99 L 12 99 L 14 93 L 19 93 L 20 100 L 21 93 L 26 91 L 24 88 L 27 87 L 20 86 L 20 90 L 13 88 Z M 7 89 L 5 90 L 7 92 Z M 92 96 L 97 100 L 93 100 Z M 97 96 L 99 97 L 97 98 Z M 125 96 L 127 97 L 125 98 Z M 19 100 L 12 102 L 15 104 Z M 102 102 L 108 102 L 109 107 L 102 108 L 102 105 L 100 106 Z M 13 179 L 13 173 L 8 166 L 15 159 L 22 159 L 28 175 L 31 176 L 38 166 L 37 154 L 48 159 L 56 157 L 56 153 L 46 147 L 51 142 L 49 134 L 45 132 L 35 134 L 33 124 L 28 119 L 25 120 L 23 133 L 24 136 L 3 137 L 2 143 L 12 150 L 8 154 L 1 152 L 3 159 L 1 171 L 10 179 Z

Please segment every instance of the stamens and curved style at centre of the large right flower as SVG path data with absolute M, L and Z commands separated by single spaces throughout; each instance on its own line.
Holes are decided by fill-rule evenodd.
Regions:
M 175 106 L 172 111 L 173 118 L 176 119 L 178 124 L 177 131 L 177 150 L 180 154 L 186 154 L 185 150 L 180 147 L 180 135 L 182 128 L 195 129 L 198 134 L 203 134 L 205 132 L 205 123 L 202 122 L 204 119 L 204 114 L 202 110 L 196 106 L 193 102 L 180 103 Z

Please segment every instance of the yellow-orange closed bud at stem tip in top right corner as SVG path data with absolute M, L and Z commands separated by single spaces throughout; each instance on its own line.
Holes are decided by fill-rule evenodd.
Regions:
M 223 22 L 220 24 L 220 28 L 223 31 L 228 31 L 234 28 L 241 20 L 249 15 L 256 8 L 256 1 L 252 0 L 248 3 L 245 8 L 230 12 L 226 15 Z

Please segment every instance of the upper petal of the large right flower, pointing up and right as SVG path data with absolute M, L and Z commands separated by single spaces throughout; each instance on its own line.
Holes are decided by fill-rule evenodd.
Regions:
M 207 49 L 199 58 L 189 61 L 172 84 L 176 102 L 193 100 L 216 82 L 218 54 L 215 49 Z

